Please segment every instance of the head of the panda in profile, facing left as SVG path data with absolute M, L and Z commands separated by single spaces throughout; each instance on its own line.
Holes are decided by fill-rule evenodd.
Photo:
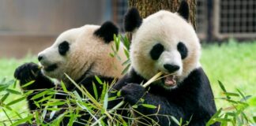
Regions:
M 108 21 L 101 26 L 87 24 L 64 31 L 38 54 L 43 74 L 63 81 L 64 73 L 73 80 L 95 75 L 119 77 L 122 65 L 109 56 L 114 34 L 118 34 L 118 28 Z

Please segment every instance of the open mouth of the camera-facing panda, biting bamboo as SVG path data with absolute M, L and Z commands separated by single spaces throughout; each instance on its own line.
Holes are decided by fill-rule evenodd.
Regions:
M 176 82 L 176 76 L 170 73 L 164 73 L 161 77 L 162 82 L 164 83 L 165 86 L 168 87 L 175 87 L 177 82 Z

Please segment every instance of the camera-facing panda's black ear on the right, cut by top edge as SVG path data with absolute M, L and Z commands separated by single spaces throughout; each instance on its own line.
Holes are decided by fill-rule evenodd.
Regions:
M 179 9 L 177 11 L 180 16 L 182 16 L 184 19 L 189 20 L 190 17 L 190 7 L 188 6 L 187 2 L 183 0 L 180 3 Z

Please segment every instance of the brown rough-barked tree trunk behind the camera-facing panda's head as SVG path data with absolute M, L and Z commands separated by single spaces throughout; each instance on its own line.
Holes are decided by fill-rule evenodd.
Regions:
M 181 0 L 128 0 L 129 7 L 136 7 L 141 17 L 148 17 L 152 13 L 156 13 L 160 9 L 176 12 L 179 9 Z M 196 28 L 196 1 L 186 0 L 190 6 L 190 23 Z

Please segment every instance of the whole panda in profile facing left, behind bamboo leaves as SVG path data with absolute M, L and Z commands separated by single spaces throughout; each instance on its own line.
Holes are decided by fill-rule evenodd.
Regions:
M 19 66 L 15 70 L 14 77 L 20 81 L 21 87 L 35 80 L 28 87 L 23 87 L 24 91 L 34 91 L 27 98 L 30 111 L 39 109 L 34 102 L 42 99 L 31 100 L 31 98 L 40 93 L 42 89 L 55 87 L 59 90 L 61 80 L 66 84 L 68 91 L 81 93 L 64 73 L 76 83 L 83 85 L 91 95 L 93 95 L 92 82 L 96 83 L 97 92 L 102 91 L 103 85 L 98 83 L 95 76 L 109 84 L 119 79 L 124 69 L 122 62 L 126 60 L 122 44 L 118 51 L 121 61 L 109 55 L 113 51 L 111 50 L 111 46 L 114 46 L 113 36 L 119 33 L 118 30 L 115 24 L 107 21 L 101 26 L 86 24 L 81 28 L 64 31 L 52 46 L 38 54 L 40 65 L 31 62 Z M 43 68 L 40 69 L 40 66 Z M 66 96 L 55 95 L 55 98 L 65 99 Z M 68 122 L 68 119 L 64 121 Z

